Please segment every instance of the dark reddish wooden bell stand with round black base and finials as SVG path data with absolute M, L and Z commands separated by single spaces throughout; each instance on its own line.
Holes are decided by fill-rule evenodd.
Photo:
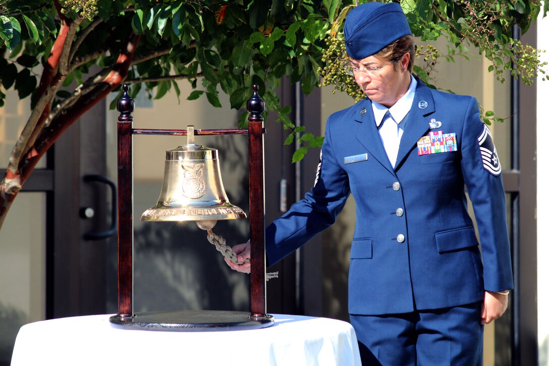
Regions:
M 265 102 L 253 86 L 248 99 L 248 129 L 195 130 L 195 135 L 248 134 L 250 181 L 250 312 L 181 310 L 133 313 L 133 135 L 187 135 L 187 130 L 134 129 L 135 102 L 123 86 L 124 95 L 116 103 L 120 112 L 118 134 L 118 313 L 110 317 L 117 328 L 163 331 L 247 330 L 274 324 L 266 314 L 265 286 L 265 185 L 263 117 Z

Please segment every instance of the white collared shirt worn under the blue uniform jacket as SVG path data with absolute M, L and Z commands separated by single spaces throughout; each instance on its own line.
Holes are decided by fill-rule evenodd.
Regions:
M 393 168 L 395 167 L 396 157 L 399 154 L 400 139 L 404 133 L 404 124 L 400 124 L 412 108 L 413 98 L 416 95 L 417 81 L 410 76 L 411 82 L 408 91 L 391 108 L 372 101 L 374 119 L 379 129 L 379 136 L 383 142 L 385 152 Z M 387 118 L 385 114 L 389 112 Z M 382 123 L 383 122 L 383 123 Z

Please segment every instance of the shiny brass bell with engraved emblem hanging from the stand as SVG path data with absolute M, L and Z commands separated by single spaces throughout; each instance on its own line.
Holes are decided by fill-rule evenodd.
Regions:
M 195 145 L 193 126 L 187 127 L 187 139 L 187 145 L 166 151 L 158 203 L 141 215 L 141 221 L 197 221 L 208 230 L 216 220 L 245 218 L 227 198 L 217 150 Z

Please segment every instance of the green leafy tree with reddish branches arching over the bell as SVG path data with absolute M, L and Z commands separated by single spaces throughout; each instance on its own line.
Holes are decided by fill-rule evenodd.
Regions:
M 513 76 L 530 80 L 539 69 L 538 51 L 511 37 L 514 24 L 526 31 L 541 11 L 537 1 L 401 4 L 416 36 L 427 42 L 444 36 L 455 49 L 477 47 L 500 79 L 511 69 Z M 323 80 L 362 97 L 341 70 L 341 25 L 355 5 L 343 0 L 0 0 L 0 107 L 5 91 L 13 89 L 21 99 L 30 97 L 31 108 L 0 182 L 0 226 L 43 154 L 94 104 L 119 92 L 122 82 L 135 84 L 133 96 L 144 88 L 161 98 L 170 90 L 180 97 L 175 80 L 187 79 L 193 91 L 183 97 L 207 98 L 220 107 L 221 90 L 235 109 L 257 84 L 266 113 L 276 114 L 289 132 L 285 143 L 301 144 L 293 160 L 301 159 L 309 147 L 321 146 L 322 137 L 293 125 L 292 111 L 281 106 L 275 88 L 288 77 L 308 94 Z M 433 47 L 418 54 L 433 63 L 442 58 Z M 414 70 L 425 81 L 433 66 L 428 65 Z

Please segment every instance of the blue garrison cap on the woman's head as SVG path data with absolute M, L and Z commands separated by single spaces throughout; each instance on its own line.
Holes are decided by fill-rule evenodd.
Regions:
M 345 47 L 349 57 L 360 60 L 380 51 L 402 36 L 412 35 L 398 3 L 365 3 L 345 19 Z

